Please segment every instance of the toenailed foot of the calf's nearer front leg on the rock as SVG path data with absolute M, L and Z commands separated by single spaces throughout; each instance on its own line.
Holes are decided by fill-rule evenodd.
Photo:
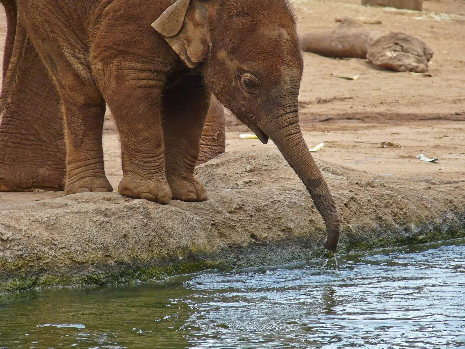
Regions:
M 124 196 L 155 201 L 162 205 L 171 201 L 171 189 L 166 180 L 140 180 L 124 175 L 118 192 Z

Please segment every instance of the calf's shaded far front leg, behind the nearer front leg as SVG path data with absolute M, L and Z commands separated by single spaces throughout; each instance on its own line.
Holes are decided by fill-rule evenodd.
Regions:
M 164 94 L 165 172 L 175 200 L 206 200 L 194 169 L 209 105 L 210 93 L 200 76 L 186 76 Z

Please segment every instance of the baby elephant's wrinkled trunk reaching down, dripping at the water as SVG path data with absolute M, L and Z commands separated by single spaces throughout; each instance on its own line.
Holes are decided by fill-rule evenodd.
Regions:
M 339 214 L 325 178 L 302 136 L 299 115 L 297 112 L 292 112 L 275 120 L 281 121 L 279 127 L 265 126 L 262 129 L 277 145 L 281 154 L 283 154 L 312 196 L 315 207 L 322 215 L 328 231 L 325 248 L 334 253 L 339 242 Z

